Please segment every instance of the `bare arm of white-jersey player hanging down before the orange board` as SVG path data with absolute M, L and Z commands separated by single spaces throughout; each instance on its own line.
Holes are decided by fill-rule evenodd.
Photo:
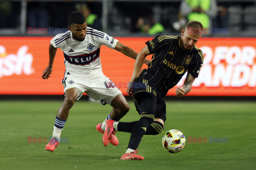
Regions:
M 52 73 L 52 65 L 53 65 L 53 61 L 55 58 L 55 55 L 57 53 L 57 48 L 54 48 L 51 44 L 49 46 L 49 64 L 46 67 L 46 69 L 44 70 L 44 73 L 42 75 L 43 79 L 48 79 L 50 76 L 50 74 Z

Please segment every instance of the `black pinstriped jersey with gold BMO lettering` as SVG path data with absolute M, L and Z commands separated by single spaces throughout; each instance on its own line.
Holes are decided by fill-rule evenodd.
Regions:
M 139 77 L 156 84 L 164 96 L 187 71 L 198 77 L 204 55 L 196 46 L 184 50 L 180 48 L 180 37 L 170 35 L 158 35 L 146 44 L 153 56 L 148 69 L 141 70 Z

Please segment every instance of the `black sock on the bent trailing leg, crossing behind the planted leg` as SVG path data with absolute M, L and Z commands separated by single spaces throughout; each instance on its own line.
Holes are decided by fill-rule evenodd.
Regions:
M 137 123 L 138 121 L 134 122 L 118 122 L 117 124 L 117 130 L 120 132 L 132 132 L 133 126 Z M 145 132 L 146 135 L 156 135 L 161 132 L 163 132 L 164 126 L 160 122 L 153 122 L 148 126 L 147 131 Z

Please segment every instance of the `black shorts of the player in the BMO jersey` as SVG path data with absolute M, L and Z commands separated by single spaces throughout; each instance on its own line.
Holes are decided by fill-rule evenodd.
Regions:
M 148 80 L 137 78 L 132 87 L 132 96 L 136 110 L 141 115 L 148 112 L 155 115 L 155 118 L 166 120 L 166 105 L 164 98 L 157 90 L 156 85 Z

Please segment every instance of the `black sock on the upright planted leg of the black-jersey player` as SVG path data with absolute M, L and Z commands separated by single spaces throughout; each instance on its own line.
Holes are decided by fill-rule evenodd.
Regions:
M 147 114 L 148 115 L 148 114 Z M 152 117 L 151 117 L 152 115 Z M 127 148 L 131 149 L 137 149 L 140 141 L 148 129 L 148 126 L 154 122 L 154 115 L 150 114 L 149 116 L 143 116 L 140 118 L 140 120 L 133 126 L 132 132 L 131 132 L 131 138 L 129 141 L 129 145 Z

